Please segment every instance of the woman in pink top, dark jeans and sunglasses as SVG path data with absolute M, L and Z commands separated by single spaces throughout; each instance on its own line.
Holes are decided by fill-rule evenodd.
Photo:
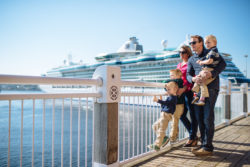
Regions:
M 195 119 L 194 114 L 194 106 L 191 104 L 193 99 L 193 92 L 192 92 L 192 84 L 190 84 L 186 79 L 187 74 L 187 63 L 190 56 L 192 56 L 192 51 L 189 46 L 183 45 L 181 46 L 180 50 L 180 57 L 182 59 L 182 62 L 177 65 L 177 68 L 181 70 L 182 72 L 182 80 L 183 80 L 183 88 L 181 89 L 178 94 L 184 93 L 185 96 L 185 105 L 184 105 L 184 112 L 181 116 L 181 121 L 184 124 L 185 128 L 189 132 L 189 140 L 186 144 L 184 144 L 184 147 L 194 147 L 197 145 L 198 138 L 197 138 L 197 129 L 198 129 L 198 123 Z M 191 122 L 187 118 L 187 111 L 190 112 L 190 118 Z

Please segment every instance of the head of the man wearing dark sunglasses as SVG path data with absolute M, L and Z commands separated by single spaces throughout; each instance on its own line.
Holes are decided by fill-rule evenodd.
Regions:
M 203 50 L 204 45 L 203 38 L 199 35 L 193 35 L 191 36 L 189 45 L 195 53 L 200 54 Z

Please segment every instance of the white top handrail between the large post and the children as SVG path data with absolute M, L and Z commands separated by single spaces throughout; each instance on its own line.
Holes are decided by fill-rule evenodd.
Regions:
M 165 87 L 165 83 L 157 83 L 157 82 L 121 81 L 120 84 L 121 86 L 156 87 L 156 88 Z

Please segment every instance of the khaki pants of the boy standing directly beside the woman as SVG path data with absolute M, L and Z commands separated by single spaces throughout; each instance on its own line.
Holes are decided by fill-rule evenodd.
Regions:
M 179 120 L 184 112 L 184 104 L 177 104 L 172 118 L 172 128 L 170 132 L 170 140 L 175 141 L 179 134 Z

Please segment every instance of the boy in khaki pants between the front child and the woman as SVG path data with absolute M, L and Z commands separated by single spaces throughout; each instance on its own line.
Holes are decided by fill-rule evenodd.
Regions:
M 172 129 L 170 131 L 170 142 L 173 143 L 177 140 L 178 134 L 179 134 L 179 120 L 181 118 L 181 115 L 184 112 L 184 94 L 178 95 L 179 92 L 184 92 L 181 89 L 186 89 L 187 87 L 185 86 L 183 88 L 183 80 L 182 80 L 182 72 L 180 69 L 173 69 L 169 71 L 170 73 L 170 79 L 165 81 L 165 83 L 174 81 L 178 84 L 178 91 L 177 91 L 177 104 L 176 104 L 176 110 L 173 115 L 172 119 Z

